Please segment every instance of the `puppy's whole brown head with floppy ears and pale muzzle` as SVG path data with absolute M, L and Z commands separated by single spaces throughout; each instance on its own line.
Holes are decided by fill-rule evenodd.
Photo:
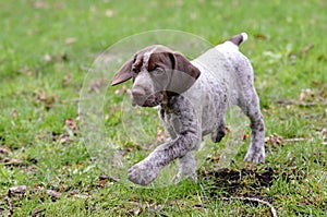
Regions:
M 140 50 L 117 72 L 111 85 L 133 80 L 132 104 L 154 107 L 190 88 L 201 72 L 185 57 L 160 45 Z

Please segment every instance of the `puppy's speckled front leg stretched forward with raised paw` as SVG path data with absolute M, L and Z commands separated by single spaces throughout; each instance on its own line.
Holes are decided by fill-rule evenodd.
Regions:
M 199 121 L 192 105 L 180 97 L 170 108 L 169 116 L 177 137 L 158 146 L 144 160 L 131 167 L 128 171 L 130 181 L 141 185 L 150 183 L 166 165 L 184 157 L 201 143 Z

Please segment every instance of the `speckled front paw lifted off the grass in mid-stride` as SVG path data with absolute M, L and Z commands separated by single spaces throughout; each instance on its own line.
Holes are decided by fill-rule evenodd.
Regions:
M 128 178 L 135 184 L 147 185 L 157 178 L 160 169 L 147 161 L 141 161 L 129 169 Z

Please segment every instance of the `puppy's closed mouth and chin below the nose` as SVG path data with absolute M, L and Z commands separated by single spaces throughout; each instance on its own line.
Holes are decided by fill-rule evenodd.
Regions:
M 162 103 L 164 93 L 156 93 L 149 96 L 131 95 L 133 106 L 155 107 Z

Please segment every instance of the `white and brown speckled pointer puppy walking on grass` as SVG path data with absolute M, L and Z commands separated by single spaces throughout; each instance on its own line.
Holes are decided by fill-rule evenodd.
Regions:
M 251 145 L 245 161 L 264 162 L 265 126 L 259 99 L 253 85 L 253 69 L 239 45 L 247 39 L 242 33 L 189 61 L 161 45 L 137 51 L 114 75 L 111 85 L 133 80 L 133 105 L 158 107 L 171 140 L 159 145 L 145 159 L 131 167 L 129 180 L 146 185 L 160 170 L 178 159 L 177 180 L 196 178 L 192 150 L 203 136 L 214 142 L 225 136 L 225 113 L 238 105 L 251 120 Z

